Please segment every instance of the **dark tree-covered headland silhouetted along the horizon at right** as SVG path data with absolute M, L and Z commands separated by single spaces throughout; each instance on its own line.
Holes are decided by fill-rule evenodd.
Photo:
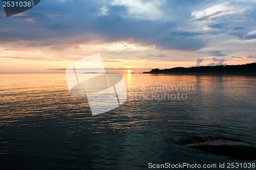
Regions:
M 143 74 L 223 74 L 223 75 L 256 75 L 256 63 L 243 65 L 217 65 L 197 67 L 154 68 Z

